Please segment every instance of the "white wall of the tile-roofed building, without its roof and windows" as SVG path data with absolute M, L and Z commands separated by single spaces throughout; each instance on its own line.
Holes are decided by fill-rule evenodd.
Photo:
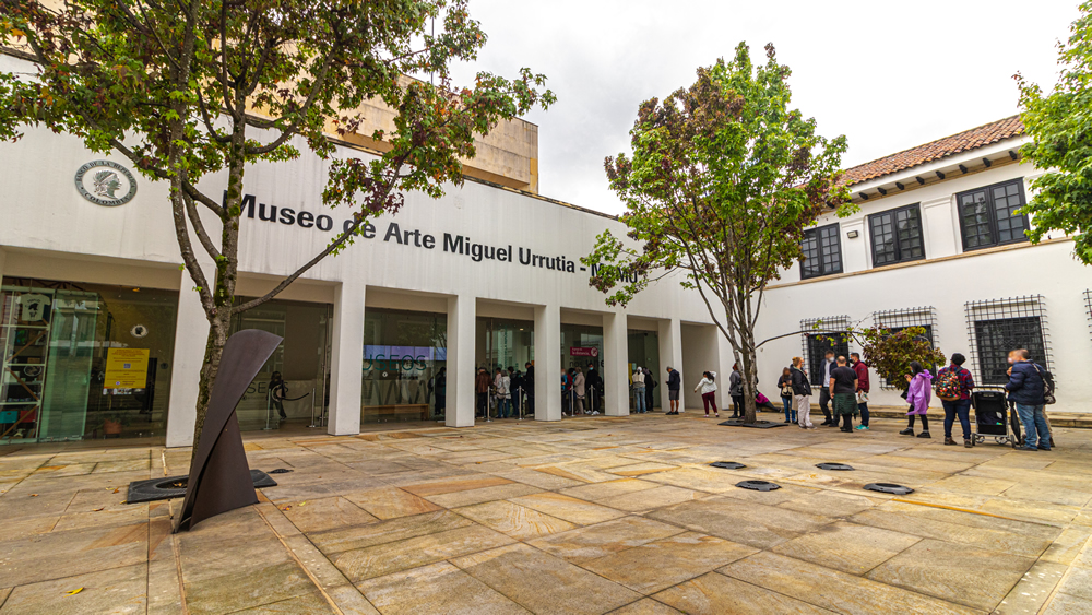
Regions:
M 981 387 L 985 382 L 976 323 L 1041 314 L 1047 345 L 1045 358 L 1058 386 L 1058 403 L 1052 411 L 1092 411 L 1088 403 L 1092 381 L 1084 376 L 1092 365 L 1092 331 L 1085 298 L 1092 288 L 1092 269 L 1073 259 L 1072 241 L 1058 236 L 1037 246 L 1022 241 L 976 250 L 963 247 L 957 194 L 1009 180 L 1021 180 L 1024 192 L 1030 193 L 1031 180 L 1040 172 L 1010 155 L 1024 141 L 1023 137 L 1004 140 L 853 186 L 860 211 L 842 220 L 828 215 L 816 224 L 816 227 L 839 225 L 842 271 L 803 281 L 800 267 L 785 271 L 767 292 L 758 339 L 790 333 L 802 322 L 807 329 L 816 319 L 832 324 L 842 316 L 858 327 L 883 326 L 882 315 L 878 322 L 876 312 L 903 310 L 891 316 L 892 321 L 931 321 L 940 350 L 948 356 L 964 354 L 965 367 Z M 990 161 L 988 167 L 983 158 Z M 960 169 L 961 165 L 966 173 Z M 943 180 L 938 180 L 937 172 L 943 175 Z M 927 182 L 919 185 L 918 177 Z M 887 194 L 880 194 L 879 188 Z M 869 198 L 862 200 L 862 192 Z M 919 204 L 925 258 L 875 267 L 869 216 L 914 204 Z M 1025 298 L 1009 300 L 1020 297 Z M 981 304 L 984 301 L 989 305 Z M 912 314 L 914 310 L 910 308 L 924 309 Z M 759 353 L 761 378 L 775 378 L 791 357 L 807 359 L 805 345 L 800 335 L 765 344 Z M 851 351 L 859 351 L 850 345 Z M 871 380 L 873 404 L 905 403 L 897 390 L 880 387 L 875 372 Z M 939 401 L 934 404 L 939 405 Z

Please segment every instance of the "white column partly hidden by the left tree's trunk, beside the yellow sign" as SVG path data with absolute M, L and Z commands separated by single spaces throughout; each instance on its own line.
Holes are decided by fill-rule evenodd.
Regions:
M 170 366 L 170 399 L 167 403 L 167 446 L 193 445 L 197 423 L 198 383 L 209 341 L 209 321 L 190 274 L 182 271 L 175 321 L 175 353 Z

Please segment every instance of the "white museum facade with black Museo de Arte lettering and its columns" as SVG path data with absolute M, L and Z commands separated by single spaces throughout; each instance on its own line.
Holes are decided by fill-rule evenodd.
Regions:
M 348 149 L 337 155 L 366 156 Z M 207 324 L 189 274 L 179 269 L 167 187 L 138 177 L 139 190 L 131 202 L 95 204 L 79 193 L 73 177 L 81 165 L 97 159 L 129 166 L 120 156 L 95 154 L 79 140 L 47 130 L 28 130 L 19 143 L 0 144 L 0 161 L 11 178 L 0 202 L 0 273 L 9 279 L 178 291 L 174 357 L 165 362 L 171 382 L 166 440 L 168 446 L 186 446 L 192 438 Z M 325 177 L 327 164 L 308 156 L 248 169 L 245 192 L 256 198 L 257 211 L 253 218 L 246 213 L 242 218 L 239 295 L 256 296 L 272 288 L 325 247 L 349 217 L 349 212 L 321 205 Z M 201 188 L 218 193 L 225 185 L 223 176 L 210 176 Z M 260 220 L 261 205 L 290 208 L 296 215 L 308 212 L 312 216 L 305 216 L 308 225 L 328 215 L 333 228 L 265 222 Z M 213 222 L 207 216 L 205 223 L 216 236 Z M 323 225 L 329 222 L 323 220 Z M 630 330 L 657 333 L 661 366 L 680 370 L 688 393 L 705 369 L 723 374 L 726 381 L 731 354 L 696 295 L 665 280 L 622 310 L 607 308 L 603 294 L 589 286 L 590 272 L 579 258 L 591 251 L 605 228 L 625 233 L 613 217 L 467 181 L 462 188 L 448 187 L 447 196 L 436 201 L 407 194 L 396 216 L 382 216 L 372 225 L 373 238 L 358 238 L 280 297 L 332 305 L 330 434 L 360 430 L 364 315 L 375 307 L 447 315 L 450 426 L 475 421 L 474 344 L 479 316 L 534 322 L 536 419 L 561 418 L 562 323 L 603 328 L 605 414 L 629 413 Z M 458 237 L 464 246 L 500 248 L 508 259 L 477 261 L 453 252 L 451 243 Z M 532 252 L 533 264 L 521 263 L 521 257 L 529 260 Z M 539 257 L 571 271 L 550 269 Z M 550 356 L 542 348 L 556 348 L 558 354 Z M 657 380 L 665 377 L 658 374 Z M 725 399 L 726 389 L 722 387 Z M 666 387 L 658 393 L 666 406 Z M 698 395 L 688 394 L 687 400 L 691 407 L 700 404 Z

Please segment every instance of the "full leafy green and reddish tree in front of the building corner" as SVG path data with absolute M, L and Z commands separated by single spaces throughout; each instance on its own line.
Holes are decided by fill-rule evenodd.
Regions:
M 583 263 L 609 305 L 626 305 L 652 281 L 681 274 L 697 289 L 744 374 L 745 421 L 755 421 L 755 327 L 767 285 L 803 258 L 804 229 L 821 213 L 847 213 L 839 184 L 845 138 L 827 140 L 790 108 L 788 67 L 772 45 L 752 66 L 747 45 L 731 62 L 698 70 L 663 103 L 641 104 L 632 156 L 606 159 L 626 203 L 632 244 L 609 230 Z

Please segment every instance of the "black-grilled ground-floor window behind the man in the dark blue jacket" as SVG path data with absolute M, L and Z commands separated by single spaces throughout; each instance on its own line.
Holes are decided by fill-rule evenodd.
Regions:
M 1008 382 L 1009 351 L 1026 348 L 1031 358 L 1051 369 L 1049 328 L 1042 295 L 969 301 L 968 341 L 971 369 L 982 386 Z

